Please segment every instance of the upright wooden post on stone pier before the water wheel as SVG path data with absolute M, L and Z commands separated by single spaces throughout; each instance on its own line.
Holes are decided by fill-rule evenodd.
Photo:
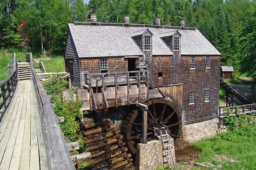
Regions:
M 142 109 L 142 143 L 147 143 L 147 110 L 149 107 L 142 103 L 136 103 L 136 107 Z

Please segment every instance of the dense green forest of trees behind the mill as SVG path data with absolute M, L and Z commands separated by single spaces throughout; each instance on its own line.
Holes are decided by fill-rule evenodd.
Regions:
M 130 23 L 153 24 L 159 17 L 161 24 L 173 26 L 184 19 L 186 26 L 197 27 L 221 52 L 221 65 L 256 77 L 255 6 L 255 1 L 248 0 L 91 0 L 89 4 L 83 0 L 4 0 L 0 3 L 0 43 L 5 48 L 63 53 L 66 24 L 89 21 L 92 12 L 98 22 L 111 23 L 122 23 L 124 15 L 130 16 Z

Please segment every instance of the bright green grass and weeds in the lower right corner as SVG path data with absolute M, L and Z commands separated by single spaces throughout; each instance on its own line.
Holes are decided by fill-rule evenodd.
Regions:
M 256 123 L 253 115 L 225 118 L 227 132 L 198 141 L 193 146 L 201 150 L 198 162 L 223 165 L 223 169 L 254 169 L 256 167 Z M 215 155 L 224 155 L 235 161 L 215 160 Z

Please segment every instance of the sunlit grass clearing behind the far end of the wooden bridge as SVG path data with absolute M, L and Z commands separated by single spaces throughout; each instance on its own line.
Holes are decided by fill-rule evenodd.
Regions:
M 36 57 L 35 57 L 36 58 Z M 25 53 L 16 53 L 17 62 L 22 61 L 24 62 Z M 64 72 L 65 71 L 65 64 L 63 56 L 52 56 L 50 60 L 44 60 L 44 67 L 47 72 Z M 0 82 L 6 79 L 9 76 L 8 72 L 8 63 L 12 60 L 12 53 L 7 51 L 0 51 Z M 37 59 L 38 60 L 38 59 Z

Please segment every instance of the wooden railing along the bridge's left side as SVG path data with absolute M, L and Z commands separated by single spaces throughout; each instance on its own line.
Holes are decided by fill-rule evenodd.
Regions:
M 14 92 L 17 85 L 17 61 L 16 54 L 13 54 L 13 60 L 9 63 L 9 77 L 0 83 L 0 111 L 3 110 L 3 114 L 0 117 L 0 122 L 4 116 L 4 112 L 8 108 L 8 105 L 14 96 Z

